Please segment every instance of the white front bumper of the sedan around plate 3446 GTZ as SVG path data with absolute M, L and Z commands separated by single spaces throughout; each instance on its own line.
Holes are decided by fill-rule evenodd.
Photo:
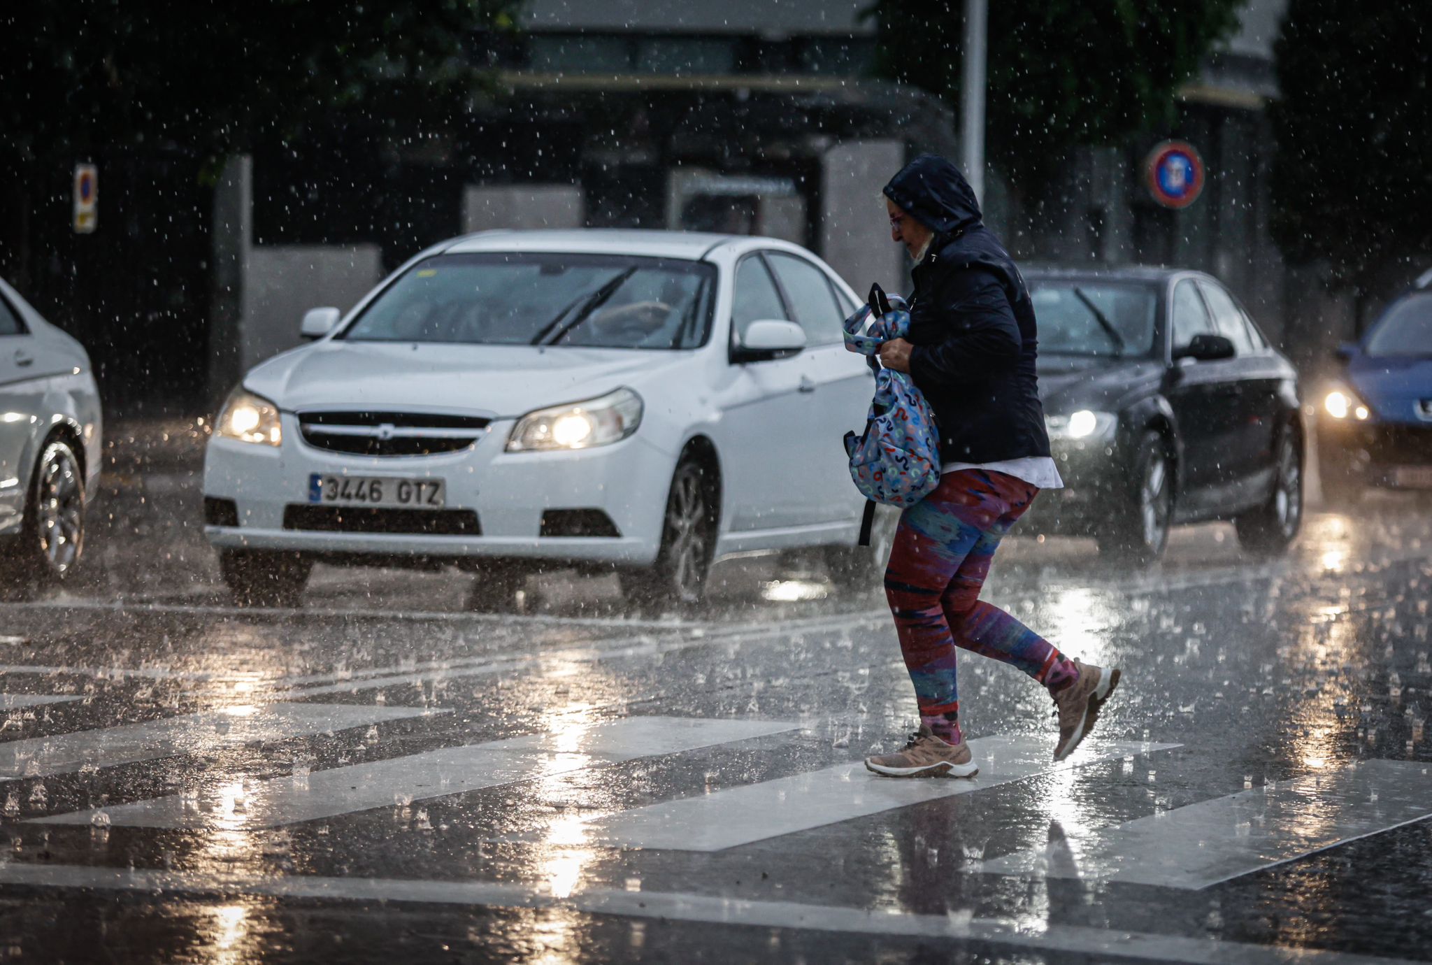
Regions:
M 255 445 L 215 437 L 205 455 L 206 501 L 232 500 L 238 525 L 205 525 L 219 548 L 285 550 L 318 558 L 497 557 L 613 566 L 656 558 L 674 457 L 640 438 L 570 452 L 505 452 L 513 420 L 494 421 L 478 442 L 458 452 L 368 457 L 334 452 L 304 441 L 298 420 L 282 415 L 284 444 Z M 445 510 L 471 511 L 475 527 L 457 535 L 425 531 L 331 531 L 301 528 L 315 472 L 441 478 Z M 298 510 L 295 510 L 298 507 Z M 543 535 L 548 510 L 596 510 L 616 535 Z M 422 518 L 422 510 L 404 518 Z M 354 513 L 357 517 L 361 513 Z M 591 515 L 591 514 L 589 514 Z M 407 521 L 398 528 L 410 527 Z M 473 531 L 475 528 L 475 531 Z

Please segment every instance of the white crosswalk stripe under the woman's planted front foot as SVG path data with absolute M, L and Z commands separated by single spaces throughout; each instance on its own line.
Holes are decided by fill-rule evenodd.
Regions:
M 594 818 L 583 825 L 581 842 L 583 846 L 723 850 L 1067 767 L 1177 746 L 1090 742 L 1074 759 L 1054 763 L 1050 739 L 979 737 L 969 742 L 979 763 L 977 777 L 901 780 L 872 775 L 859 762 L 845 763 Z

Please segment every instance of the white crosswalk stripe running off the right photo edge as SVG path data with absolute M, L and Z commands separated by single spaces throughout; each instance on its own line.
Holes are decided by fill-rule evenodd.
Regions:
M 1005 855 L 979 871 L 1199 889 L 1428 816 L 1432 767 L 1368 760 Z

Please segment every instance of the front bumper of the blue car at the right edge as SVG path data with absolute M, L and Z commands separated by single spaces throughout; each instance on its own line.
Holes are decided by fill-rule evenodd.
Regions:
M 1362 485 L 1432 488 L 1432 422 L 1317 421 L 1323 477 L 1340 474 Z

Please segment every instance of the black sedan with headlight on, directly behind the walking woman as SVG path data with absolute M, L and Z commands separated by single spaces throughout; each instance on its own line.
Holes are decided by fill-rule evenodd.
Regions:
M 1022 533 L 1157 558 L 1169 527 L 1233 520 L 1280 553 L 1303 514 L 1297 374 L 1214 278 L 1164 268 L 1027 273 L 1040 389 L 1065 488 Z

